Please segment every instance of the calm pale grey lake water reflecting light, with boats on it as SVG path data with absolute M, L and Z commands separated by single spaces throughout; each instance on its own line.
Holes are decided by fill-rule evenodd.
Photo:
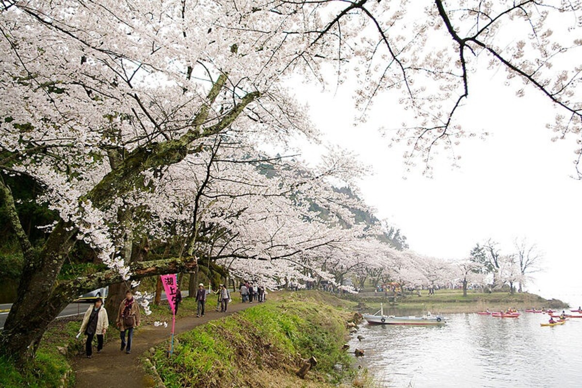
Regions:
M 548 315 L 446 317 L 441 327 L 363 323 L 364 339 L 350 340 L 365 352 L 356 365 L 381 387 L 582 387 L 582 318 L 542 328 Z

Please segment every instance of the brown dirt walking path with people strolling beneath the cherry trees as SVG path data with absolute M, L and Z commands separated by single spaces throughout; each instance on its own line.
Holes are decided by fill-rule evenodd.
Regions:
M 196 326 L 220 319 L 225 315 L 233 314 L 255 304 L 233 303 L 229 305 L 228 312 L 216 312 L 214 308 L 208 309 L 205 316 L 196 318 L 196 315 L 186 316 L 176 319 L 176 334 L 187 332 Z M 208 307 L 214 307 L 215 304 L 207 304 Z M 168 322 L 170 323 L 170 322 Z M 109 330 L 108 335 L 115 336 L 109 340 L 101 354 L 97 354 L 93 349 L 93 358 L 79 356 L 73 362 L 76 373 L 77 388 L 144 388 L 151 387 L 153 380 L 142 368 L 139 357 L 145 351 L 149 350 L 170 337 L 171 328 L 163 326 L 155 327 L 153 325 L 143 326 L 137 329 L 133 335 L 132 353 L 125 354 L 125 351 L 119 350 L 120 340 L 119 332 L 116 329 Z

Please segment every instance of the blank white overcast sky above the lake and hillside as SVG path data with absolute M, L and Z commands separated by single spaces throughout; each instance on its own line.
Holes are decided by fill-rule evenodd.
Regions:
M 460 168 L 434 165 L 432 179 L 404 172 L 404 145 L 389 148 L 380 127 L 402 122 L 400 107 L 377 102 L 365 124 L 354 126 L 349 87 L 303 85 L 296 98 L 310 107 L 324 141 L 358 154 L 374 173 L 361 181 L 365 201 L 402 229 L 410 248 L 421 254 L 460 259 L 491 237 L 512 250 L 527 237 L 545 252 L 545 270 L 528 289 L 545 297 L 582 304 L 580 220 L 582 181 L 573 179 L 575 140 L 552 143 L 555 111 L 539 92 L 515 97 L 503 86 L 505 72 L 475 74 L 470 99 L 459 116 L 465 129 L 484 130 L 482 141 L 467 138 L 456 148 Z M 310 151 L 304 156 L 310 158 Z M 445 154 L 442 151 L 441 154 Z M 406 178 L 406 179 L 404 179 Z

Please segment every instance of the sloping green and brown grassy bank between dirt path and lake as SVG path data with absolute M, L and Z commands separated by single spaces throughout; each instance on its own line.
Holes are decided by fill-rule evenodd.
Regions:
M 322 298 L 331 299 L 323 302 Z M 167 344 L 146 364 L 168 388 L 325 387 L 356 378 L 342 350 L 351 305 L 322 293 L 290 293 L 180 334 L 172 358 Z M 339 307 L 339 308 L 338 308 Z M 301 358 L 317 358 L 307 379 L 294 373 Z

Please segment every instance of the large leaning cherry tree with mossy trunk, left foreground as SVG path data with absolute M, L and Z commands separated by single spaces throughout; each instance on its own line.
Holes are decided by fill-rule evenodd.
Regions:
M 255 143 L 313 136 L 278 86 L 289 65 L 282 58 L 295 50 L 276 49 L 261 32 L 279 31 L 280 20 L 254 15 L 250 3 L 228 5 L 225 18 L 224 6 L 2 2 L 0 166 L 37 180 L 38 200 L 59 215 L 33 248 L 2 184 L 24 255 L 3 354 L 33 355 L 48 323 L 84 291 L 196 266 L 185 256 L 132 263 L 130 250 L 142 194 L 196 153 L 197 141 L 227 130 Z M 79 241 L 110 269 L 59 281 Z

